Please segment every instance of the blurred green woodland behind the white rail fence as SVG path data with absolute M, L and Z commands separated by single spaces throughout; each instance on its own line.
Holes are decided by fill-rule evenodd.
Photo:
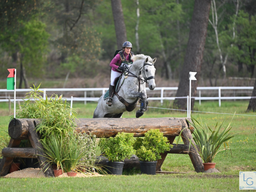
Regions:
M 204 2 L 210 11 L 206 14 L 205 45 L 201 44 L 200 82 L 224 86 L 230 77 L 231 81 L 241 77 L 250 80 L 247 86 L 253 86 L 256 1 Z M 178 82 L 187 78 L 183 74 L 184 58 L 190 52 L 187 46 L 196 3 L 200 1 L 0 0 L 0 79 L 6 80 L 6 69 L 11 67 L 18 69 L 18 88 L 38 84 L 38 79 L 64 82 L 68 78 L 86 78 L 90 83 L 66 87 L 106 87 L 109 63 L 114 52 L 121 49 L 119 32 L 132 42 L 134 54 L 158 58 L 158 82 Z M 119 20 L 124 26 L 115 28 Z M 100 81 L 104 84 L 95 83 Z

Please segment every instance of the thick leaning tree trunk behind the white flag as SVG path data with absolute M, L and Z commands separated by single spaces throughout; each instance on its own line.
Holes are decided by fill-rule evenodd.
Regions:
M 176 97 L 184 97 L 189 95 L 189 72 L 197 72 L 196 81 L 192 81 L 191 96 L 196 95 L 196 87 L 198 84 L 202 58 L 204 52 L 204 44 L 207 33 L 208 18 L 210 12 L 210 0 L 195 0 L 194 12 L 190 24 L 190 32 L 188 38 L 188 46 L 182 69 L 182 76 L 178 86 Z M 194 99 L 191 100 L 191 108 L 193 109 Z M 174 107 L 186 110 L 186 99 L 175 99 Z

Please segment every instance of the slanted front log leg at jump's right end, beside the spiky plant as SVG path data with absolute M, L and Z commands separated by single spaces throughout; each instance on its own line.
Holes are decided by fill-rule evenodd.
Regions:
M 188 127 L 189 122 L 186 120 L 182 120 L 182 140 L 184 142 L 185 145 L 189 145 L 189 140 L 192 139 L 192 134 L 190 132 L 189 129 L 185 129 L 186 127 Z M 192 143 L 196 146 L 196 143 L 194 142 L 194 140 L 192 139 Z M 190 157 L 190 160 L 194 166 L 194 169 L 196 172 L 204 172 L 204 166 L 203 166 L 203 162 L 202 159 L 200 158 L 199 154 L 196 152 L 196 148 L 191 144 L 190 146 L 190 152 L 188 155 Z

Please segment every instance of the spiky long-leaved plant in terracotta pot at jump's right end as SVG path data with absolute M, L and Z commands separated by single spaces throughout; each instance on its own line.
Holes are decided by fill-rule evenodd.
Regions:
M 234 116 L 233 116 L 234 117 Z M 233 118 L 232 118 L 233 119 Z M 215 168 L 216 163 L 213 162 L 216 154 L 218 152 L 221 152 L 223 150 L 230 150 L 228 148 L 228 140 L 230 140 L 232 137 L 234 137 L 236 134 L 228 134 L 230 132 L 230 124 L 231 122 L 221 131 L 223 121 L 218 124 L 214 128 L 210 128 L 207 126 L 207 124 L 203 124 L 201 121 L 201 124 L 194 118 L 191 118 L 192 122 L 190 122 L 191 126 L 194 128 L 194 132 L 192 134 L 194 142 L 196 145 L 194 145 L 190 140 L 191 144 L 195 147 L 196 151 L 189 151 L 193 153 L 198 153 L 200 157 L 203 160 L 204 170 L 208 170 L 210 168 Z M 232 120 L 231 120 L 232 121 Z M 182 131 L 180 132 L 181 136 Z M 178 137 L 177 144 L 179 142 L 180 136 Z M 226 143 L 226 145 L 225 145 Z M 223 144 L 224 147 L 221 147 Z

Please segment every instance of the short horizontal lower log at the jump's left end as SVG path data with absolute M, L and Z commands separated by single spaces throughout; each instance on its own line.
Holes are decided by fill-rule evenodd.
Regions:
M 34 148 L 3 148 L 4 157 L 38 158 L 38 150 Z

